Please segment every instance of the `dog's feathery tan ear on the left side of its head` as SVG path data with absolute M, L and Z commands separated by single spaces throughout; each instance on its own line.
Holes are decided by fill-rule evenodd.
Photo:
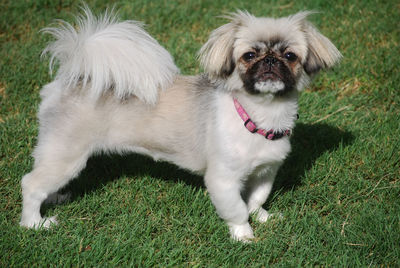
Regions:
M 232 13 L 225 18 L 231 22 L 215 29 L 199 51 L 200 64 L 210 78 L 229 76 L 235 69 L 233 45 L 239 27 L 251 18 L 246 11 Z

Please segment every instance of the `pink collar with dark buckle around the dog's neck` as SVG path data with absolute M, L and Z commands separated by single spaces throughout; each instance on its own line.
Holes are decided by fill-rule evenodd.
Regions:
M 240 118 L 242 118 L 244 122 L 244 126 L 251 133 L 258 133 L 264 136 L 267 140 L 277 140 L 282 138 L 283 136 L 290 136 L 291 131 L 289 129 L 284 131 L 275 131 L 273 129 L 270 129 L 267 131 L 262 128 L 257 128 L 256 124 L 250 119 L 250 116 L 247 114 L 243 106 L 236 98 L 233 98 L 233 103 L 235 104 L 236 111 L 238 112 Z

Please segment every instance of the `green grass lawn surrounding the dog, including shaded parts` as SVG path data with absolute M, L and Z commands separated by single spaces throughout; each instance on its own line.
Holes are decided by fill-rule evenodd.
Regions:
M 300 10 L 343 53 L 300 98 L 293 153 L 265 207 L 283 219 L 252 221 L 252 244 L 229 239 L 201 178 L 137 155 L 97 156 L 69 185 L 72 201 L 43 207 L 51 230 L 21 229 L 21 177 L 31 170 L 40 60 L 53 19 L 71 21 L 80 1 L 0 2 L 0 266 L 400 266 L 400 4 L 398 1 L 115 2 L 184 74 L 223 12 L 257 16 Z

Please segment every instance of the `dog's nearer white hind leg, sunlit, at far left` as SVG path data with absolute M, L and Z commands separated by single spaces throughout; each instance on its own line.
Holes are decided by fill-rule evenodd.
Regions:
M 46 138 L 35 149 L 35 165 L 32 172 L 22 178 L 21 226 L 48 228 L 57 224 L 55 217 L 42 218 L 40 206 L 52 193 L 65 186 L 85 167 L 91 153 L 83 143 L 66 142 L 65 137 Z

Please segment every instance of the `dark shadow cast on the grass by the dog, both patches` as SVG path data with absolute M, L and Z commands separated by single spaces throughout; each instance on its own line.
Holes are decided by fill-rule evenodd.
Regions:
M 292 152 L 281 167 L 274 189 L 287 191 L 301 184 L 304 174 L 315 160 L 326 152 L 339 146 L 346 146 L 353 140 L 350 132 L 342 131 L 327 124 L 298 123 L 291 137 Z M 150 176 L 152 178 L 180 181 L 195 187 L 204 188 L 203 179 L 166 162 L 155 162 L 137 154 L 98 155 L 89 159 L 86 168 L 78 178 L 62 191 L 72 194 L 72 199 L 101 188 L 121 177 L 131 179 Z

